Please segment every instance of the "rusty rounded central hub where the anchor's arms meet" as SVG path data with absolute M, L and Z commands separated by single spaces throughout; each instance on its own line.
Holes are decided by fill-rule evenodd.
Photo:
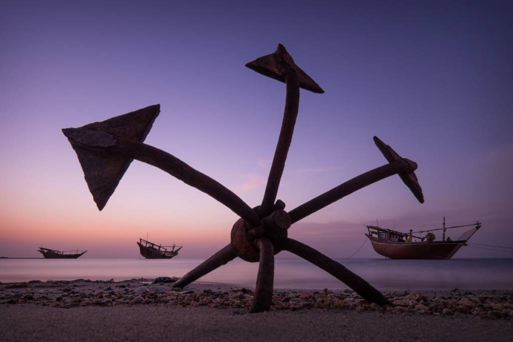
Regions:
M 235 254 L 245 261 L 257 263 L 260 260 L 260 249 L 257 240 L 264 237 L 272 243 L 274 254 L 280 253 L 283 242 L 287 239 L 287 230 L 292 225 L 289 214 L 283 210 L 285 205 L 280 200 L 275 210 L 260 220 L 260 226 L 252 227 L 240 218 L 231 230 L 231 247 Z M 281 205 L 283 204 L 283 205 Z M 258 208 L 257 208 L 258 209 Z

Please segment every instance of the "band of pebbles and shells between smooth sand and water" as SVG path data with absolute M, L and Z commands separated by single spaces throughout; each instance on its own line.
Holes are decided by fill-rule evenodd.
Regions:
M 22 286 L 23 285 L 23 286 Z M 0 305 L 41 305 L 56 308 L 118 305 L 170 307 L 236 308 L 249 312 L 254 292 L 251 289 L 219 284 L 191 284 L 185 289 L 151 279 L 112 281 L 47 281 L 0 284 Z M 390 314 L 467 316 L 488 319 L 513 319 L 513 291 L 424 291 L 388 292 L 394 307 L 368 303 L 360 295 L 343 290 L 275 290 L 271 311 L 280 310 L 356 310 Z M 478 294 L 479 293 L 479 294 Z

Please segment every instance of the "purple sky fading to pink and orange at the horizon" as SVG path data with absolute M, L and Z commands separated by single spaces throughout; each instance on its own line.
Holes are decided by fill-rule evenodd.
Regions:
M 393 176 L 290 237 L 346 257 L 364 224 L 424 230 L 445 216 L 482 222 L 470 242 L 513 247 L 511 2 L 176 3 L 0 3 L 0 256 L 38 257 L 43 246 L 138 257 L 147 234 L 183 245 L 182 257 L 226 246 L 233 212 L 140 162 L 99 212 L 61 129 L 161 104 L 145 143 L 257 206 L 285 85 L 244 65 L 278 43 L 325 90 L 301 92 L 278 193 L 286 210 L 386 164 L 374 135 L 418 163 L 425 196 L 419 204 Z M 380 256 L 367 243 L 355 257 Z

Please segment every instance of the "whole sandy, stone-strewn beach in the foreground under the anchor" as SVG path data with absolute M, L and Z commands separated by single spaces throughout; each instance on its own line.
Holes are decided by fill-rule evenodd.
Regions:
M 144 288 L 148 292 L 143 293 Z M 507 341 L 513 336 L 511 291 L 390 293 L 394 300 L 407 301 L 413 295 L 417 299 L 387 311 L 362 303 L 349 291 L 277 290 L 271 311 L 248 314 L 245 303 L 251 289 L 196 283 L 177 290 L 172 284 L 149 284 L 148 279 L 0 284 L 0 341 L 469 342 Z M 136 300 L 139 295 L 144 300 Z M 476 308 L 474 313 L 459 312 L 461 305 L 455 303 L 466 303 L 464 298 L 485 303 L 480 314 Z M 199 305 L 207 299 L 210 306 Z M 212 307 L 222 300 L 224 304 Z M 298 306 L 276 309 L 281 301 Z M 342 302 L 345 305 L 336 305 Z M 418 310 L 416 303 L 452 303 L 449 308 L 455 313 Z

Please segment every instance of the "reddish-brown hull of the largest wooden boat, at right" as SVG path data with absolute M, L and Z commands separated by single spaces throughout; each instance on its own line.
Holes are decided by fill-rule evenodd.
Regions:
M 367 234 L 366 234 L 367 235 Z M 384 243 L 370 238 L 374 250 L 389 259 L 450 259 L 465 241 Z

